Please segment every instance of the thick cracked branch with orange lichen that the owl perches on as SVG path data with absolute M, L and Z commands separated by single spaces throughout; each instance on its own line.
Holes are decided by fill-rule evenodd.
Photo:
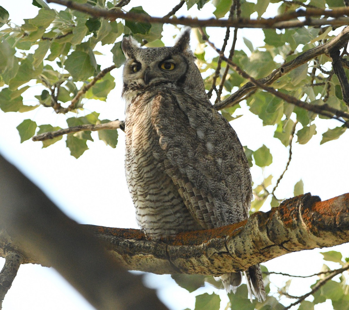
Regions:
M 137 229 L 87 227 L 129 270 L 216 276 L 287 253 L 349 242 L 348 210 L 349 193 L 326 201 L 305 194 L 237 224 L 163 241 L 149 241 Z M 42 263 L 35 258 L 27 262 Z

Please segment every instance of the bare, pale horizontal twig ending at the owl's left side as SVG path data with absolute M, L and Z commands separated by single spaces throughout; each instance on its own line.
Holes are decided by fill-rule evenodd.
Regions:
M 105 130 L 105 129 L 124 130 L 124 122 L 116 119 L 115 121 L 111 121 L 111 122 L 104 123 L 104 124 L 96 124 L 96 125 L 84 124 L 84 125 L 69 127 L 69 128 L 65 128 L 65 129 L 60 129 L 57 131 L 44 132 L 44 133 L 35 135 L 34 137 L 31 138 L 31 140 L 44 141 L 44 140 L 53 139 L 53 138 L 56 138 L 56 137 L 59 137 L 61 135 L 68 134 L 68 133 L 74 133 L 74 132 L 79 132 L 79 131 L 97 131 L 97 130 Z

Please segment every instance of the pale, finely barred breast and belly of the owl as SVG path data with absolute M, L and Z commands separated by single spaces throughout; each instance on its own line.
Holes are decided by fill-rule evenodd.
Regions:
M 165 173 L 165 158 L 154 157 L 154 150 L 159 148 L 159 138 L 151 124 L 155 95 L 147 92 L 135 98 L 125 96 L 125 171 L 137 223 L 148 238 L 159 239 L 200 226 Z

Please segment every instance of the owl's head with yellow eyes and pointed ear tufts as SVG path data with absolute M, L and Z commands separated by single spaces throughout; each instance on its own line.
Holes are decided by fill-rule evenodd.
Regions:
M 190 29 L 186 29 L 172 47 L 140 48 L 135 39 L 125 37 L 121 44 L 126 56 L 122 96 L 164 86 L 176 88 L 196 98 L 206 98 L 189 41 Z

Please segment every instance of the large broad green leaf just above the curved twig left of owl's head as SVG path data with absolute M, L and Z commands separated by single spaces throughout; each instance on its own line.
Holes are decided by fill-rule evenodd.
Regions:
M 68 55 L 65 62 L 65 69 L 76 81 L 86 80 L 95 72 L 89 54 L 81 51 L 74 51 Z

